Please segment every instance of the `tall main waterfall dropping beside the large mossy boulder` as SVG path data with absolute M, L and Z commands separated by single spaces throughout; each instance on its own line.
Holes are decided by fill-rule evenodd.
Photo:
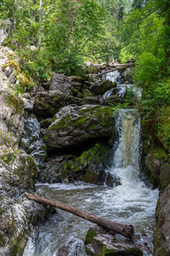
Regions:
M 118 147 L 114 155 L 113 168 L 131 166 L 133 178 L 139 177 L 140 119 L 133 109 L 122 109 L 116 117 Z M 116 142 L 117 144 L 117 142 Z

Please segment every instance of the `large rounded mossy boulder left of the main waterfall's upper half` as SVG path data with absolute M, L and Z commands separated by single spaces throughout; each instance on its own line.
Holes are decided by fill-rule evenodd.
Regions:
M 113 108 L 99 105 L 68 106 L 54 115 L 44 138 L 48 148 L 68 148 L 92 138 L 111 136 L 114 122 Z

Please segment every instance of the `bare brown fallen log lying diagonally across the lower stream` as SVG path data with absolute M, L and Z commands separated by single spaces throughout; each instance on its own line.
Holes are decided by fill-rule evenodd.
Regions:
M 105 218 L 94 216 L 88 212 L 83 212 L 82 210 L 79 210 L 76 207 L 71 207 L 69 205 L 57 201 L 51 201 L 37 195 L 25 193 L 25 196 L 26 198 L 31 199 L 33 201 L 37 201 L 39 203 L 46 204 L 51 207 L 56 207 L 66 212 L 71 212 L 80 218 L 85 218 L 95 224 L 98 224 L 99 226 L 105 228 L 106 230 L 112 230 L 113 232 L 121 234 L 122 236 L 132 238 L 132 236 L 134 235 L 133 225 L 118 224 Z

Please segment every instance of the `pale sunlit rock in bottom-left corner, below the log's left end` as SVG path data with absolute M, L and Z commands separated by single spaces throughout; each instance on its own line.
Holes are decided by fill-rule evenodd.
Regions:
M 47 211 L 23 198 L 4 198 L 0 211 L 0 255 L 22 255 L 32 224 L 44 220 Z

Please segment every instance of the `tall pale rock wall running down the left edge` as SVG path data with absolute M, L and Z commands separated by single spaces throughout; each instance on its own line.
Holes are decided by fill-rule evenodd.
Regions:
M 0 49 L 0 254 L 22 255 L 32 224 L 44 219 L 47 211 L 22 197 L 26 191 L 35 189 L 37 165 L 20 148 L 25 126 L 24 103 L 14 93 L 11 73 L 3 73 L 4 61 L 14 57 L 14 52 Z

